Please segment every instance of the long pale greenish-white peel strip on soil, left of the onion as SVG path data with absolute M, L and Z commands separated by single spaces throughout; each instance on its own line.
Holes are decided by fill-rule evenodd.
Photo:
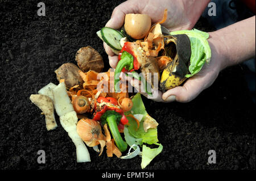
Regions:
M 68 136 L 76 146 L 77 162 L 90 162 L 88 149 L 76 131 L 78 118 L 67 94 L 65 83 L 62 82 L 52 89 L 52 94 L 55 110 L 57 115 L 60 116 L 60 124 L 68 132 Z

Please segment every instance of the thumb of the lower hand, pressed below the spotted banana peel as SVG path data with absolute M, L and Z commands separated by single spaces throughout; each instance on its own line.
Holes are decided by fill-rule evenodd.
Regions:
M 183 86 L 178 86 L 170 89 L 163 94 L 163 100 L 166 102 L 177 102 L 187 103 L 195 99 L 201 91 L 204 90 L 204 81 L 201 79 L 188 79 Z

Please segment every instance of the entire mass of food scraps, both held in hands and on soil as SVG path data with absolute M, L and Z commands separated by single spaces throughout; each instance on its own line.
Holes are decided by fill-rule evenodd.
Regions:
M 86 148 L 89 146 L 99 155 L 106 148 L 108 157 L 114 154 L 130 159 L 141 155 L 144 169 L 162 151 L 158 123 L 148 115 L 141 94 L 129 96 L 119 74 L 122 71 L 138 79 L 146 93 L 152 95 L 151 88 L 158 87 L 159 82 L 162 91 L 181 85 L 198 73 L 211 56 L 208 33 L 169 32 L 161 25 L 166 19 L 167 10 L 155 24 L 151 24 L 148 15 L 127 14 L 121 30 L 102 28 L 97 35 L 118 55 L 114 71 L 101 72 L 101 55 L 92 47 L 82 47 L 76 53 L 77 65 L 67 63 L 55 70 L 59 85 L 49 83 L 39 94 L 30 96 L 46 116 L 48 131 L 57 127 L 56 111 L 61 126 L 76 146 L 77 162 L 90 161 Z M 138 76 L 139 71 L 144 75 Z M 154 74 L 158 75 L 156 82 Z

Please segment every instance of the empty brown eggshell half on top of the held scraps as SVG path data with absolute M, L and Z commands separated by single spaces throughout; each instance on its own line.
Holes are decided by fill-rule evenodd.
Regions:
M 133 39 L 143 39 L 150 31 L 151 18 L 146 14 L 126 14 L 125 31 Z

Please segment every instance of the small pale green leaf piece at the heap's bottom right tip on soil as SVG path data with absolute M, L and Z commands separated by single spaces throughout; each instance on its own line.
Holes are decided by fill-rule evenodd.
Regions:
M 149 148 L 146 145 L 142 146 L 142 162 L 141 162 L 141 168 L 144 169 L 152 159 L 154 159 L 161 151 L 163 150 L 163 145 L 161 144 L 155 144 L 159 145 L 158 148 Z

